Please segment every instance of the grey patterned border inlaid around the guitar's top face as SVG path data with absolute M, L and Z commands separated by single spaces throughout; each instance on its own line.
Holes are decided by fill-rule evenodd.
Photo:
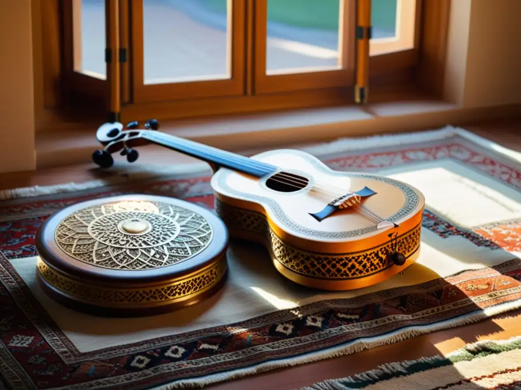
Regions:
M 392 186 L 400 188 L 405 195 L 405 203 L 398 212 L 396 212 L 395 214 L 393 214 L 392 216 L 387 218 L 387 220 L 389 220 L 390 222 L 395 222 L 395 221 L 399 220 L 400 218 L 407 216 L 412 211 L 414 211 L 416 209 L 416 207 L 418 206 L 418 202 L 419 202 L 418 194 L 412 187 L 406 185 L 405 183 L 401 183 L 400 181 L 393 180 L 393 179 L 390 179 L 388 177 L 383 177 L 383 176 L 375 176 L 375 175 L 368 175 L 368 174 L 353 174 L 353 173 L 348 173 L 348 172 L 333 171 L 328 166 L 326 166 L 324 163 L 322 163 L 320 160 L 313 157 L 312 155 L 309 155 L 309 154 L 304 153 L 299 150 L 292 150 L 291 152 L 294 154 L 298 154 L 298 155 L 302 155 L 302 156 L 306 157 L 308 162 L 311 162 L 318 170 L 320 170 L 322 172 L 326 172 L 328 175 L 373 179 L 373 180 L 377 180 L 377 181 L 383 181 L 383 183 L 387 183 Z M 267 153 L 272 153 L 272 152 L 266 152 L 263 154 L 267 154 Z M 304 233 L 309 236 L 322 237 L 322 238 L 349 238 L 349 237 L 361 236 L 361 235 L 376 231 L 376 225 L 369 226 L 369 227 L 366 227 L 363 229 L 346 230 L 346 231 L 322 231 L 322 230 L 314 230 L 314 229 L 306 228 L 306 227 L 294 222 L 286 213 L 284 213 L 284 211 L 282 210 L 282 207 L 275 200 L 267 198 L 267 197 L 253 195 L 253 194 L 246 193 L 246 192 L 241 192 L 241 191 L 238 191 L 238 190 L 228 186 L 226 178 L 230 174 L 232 174 L 232 172 L 227 172 L 227 173 L 221 174 L 219 176 L 217 183 L 220 188 L 224 189 L 225 191 L 227 191 L 228 193 L 230 193 L 234 196 L 239 196 L 239 197 L 243 197 L 248 200 L 253 200 L 253 201 L 256 201 L 259 203 L 267 204 L 271 208 L 271 210 L 275 214 L 275 216 L 284 225 L 286 225 L 289 228 L 291 228 L 295 231 L 298 231 L 300 233 Z

